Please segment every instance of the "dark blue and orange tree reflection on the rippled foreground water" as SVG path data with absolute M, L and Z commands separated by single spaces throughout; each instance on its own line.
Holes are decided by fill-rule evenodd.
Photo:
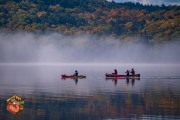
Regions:
M 17 116 L 4 110 L 1 104 L 1 117 L 8 120 L 14 117 L 29 119 L 106 119 L 136 118 L 143 115 L 179 116 L 179 98 L 168 100 L 168 94 L 144 91 L 142 93 L 113 93 L 79 96 L 73 93 L 61 94 L 58 97 L 44 94 L 25 96 L 25 109 Z M 154 99 L 156 98 L 156 99 Z M 162 114 L 163 113 L 163 114 Z

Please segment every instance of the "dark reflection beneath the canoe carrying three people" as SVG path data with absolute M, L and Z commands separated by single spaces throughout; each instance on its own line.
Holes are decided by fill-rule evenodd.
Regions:
M 130 84 L 130 81 L 131 81 L 131 85 L 134 86 L 135 80 L 140 80 L 140 78 L 126 78 L 126 79 L 123 78 L 123 79 L 120 79 L 120 78 L 114 77 L 114 78 L 106 78 L 106 80 L 114 81 L 115 86 L 117 85 L 118 80 L 126 80 L 127 86 Z

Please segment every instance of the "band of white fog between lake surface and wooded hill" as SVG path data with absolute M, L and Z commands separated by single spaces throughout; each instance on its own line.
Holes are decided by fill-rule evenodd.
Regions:
M 179 42 L 151 47 L 140 38 L 122 42 L 106 36 L 59 33 L 1 33 L 0 63 L 179 63 Z

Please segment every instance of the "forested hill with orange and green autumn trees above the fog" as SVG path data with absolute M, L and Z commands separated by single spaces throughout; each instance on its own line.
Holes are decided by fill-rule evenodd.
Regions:
M 180 37 L 180 6 L 106 0 L 1 0 L 0 30 L 85 32 L 169 41 Z

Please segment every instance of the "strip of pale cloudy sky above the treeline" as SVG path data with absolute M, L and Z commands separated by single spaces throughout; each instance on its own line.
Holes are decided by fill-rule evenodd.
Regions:
M 108 0 L 112 1 L 112 0 Z M 152 5 L 180 5 L 180 0 L 114 0 L 115 2 L 139 2 Z

